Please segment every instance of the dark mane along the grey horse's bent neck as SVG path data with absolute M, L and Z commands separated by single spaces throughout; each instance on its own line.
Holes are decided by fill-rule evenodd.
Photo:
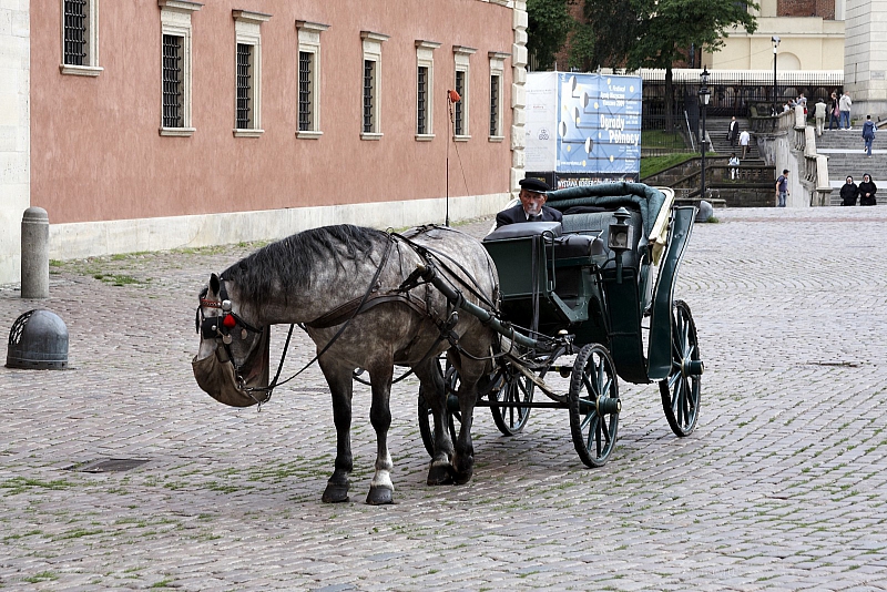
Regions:
M 288 295 L 308 287 L 317 268 L 335 264 L 344 269 L 348 261 L 356 264 L 385 239 L 381 231 L 350 224 L 312 228 L 262 247 L 222 272 L 222 277 L 235 282 L 244 298 L 261 302 L 275 289 Z

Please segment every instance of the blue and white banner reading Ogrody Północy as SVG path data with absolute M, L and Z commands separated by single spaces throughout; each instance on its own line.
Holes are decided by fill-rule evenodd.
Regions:
M 558 73 L 558 177 L 636 181 L 641 98 L 640 76 Z

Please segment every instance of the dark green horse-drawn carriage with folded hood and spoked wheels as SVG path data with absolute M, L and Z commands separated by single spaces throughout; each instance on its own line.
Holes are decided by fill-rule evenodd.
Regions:
M 466 303 L 427 271 L 451 302 L 502 336 L 477 401 L 490 407 L 502 433 L 521 431 L 533 408 L 567 408 L 579 457 L 600 467 L 616 441 L 618 378 L 659 382 L 671 429 L 677 436 L 693 431 L 703 363 L 690 307 L 673 293 L 696 208 L 673 201 L 670 190 L 630 183 L 549 193 L 548 205 L 561 211 L 562 223 L 502 226 L 483 239 L 499 273 L 498 315 Z M 572 364 L 559 363 L 572 355 Z M 459 377 L 449 365 L 441 371 L 455 435 Z M 565 392 L 546 381 L 551 372 L 570 379 Z M 418 412 L 432 453 L 431 414 L 421 392 Z

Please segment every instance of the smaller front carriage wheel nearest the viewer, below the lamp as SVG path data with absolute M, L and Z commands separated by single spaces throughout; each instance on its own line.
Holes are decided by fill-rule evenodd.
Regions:
M 575 357 L 567 402 L 579 458 L 588 467 L 602 467 L 616 443 L 622 410 L 613 360 L 602 345 L 589 344 Z

